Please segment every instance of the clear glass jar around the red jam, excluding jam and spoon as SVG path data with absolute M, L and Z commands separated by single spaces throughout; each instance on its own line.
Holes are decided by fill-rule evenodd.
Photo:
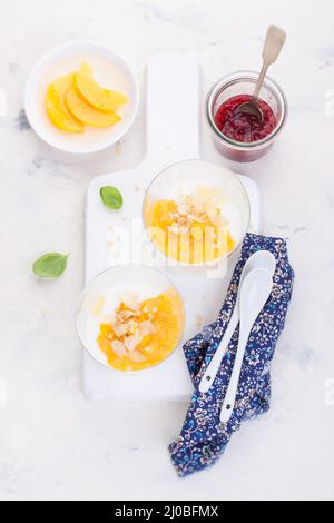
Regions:
M 234 161 L 254 161 L 266 155 L 286 122 L 286 97 L 281 87 L 266 77 L 259 99 L 271 107 L 276 118 L 276 126 L 268 136 L 257 141 L 240 142 L 225 136 L 216 126 L 215 118 L 222 105 L 236 96 L 253 95 L 257 78 L 258 73 L 254 71 L 235 72 L 222 78 L 207 95 L 205 112 L 214 144 L 223 156 Z

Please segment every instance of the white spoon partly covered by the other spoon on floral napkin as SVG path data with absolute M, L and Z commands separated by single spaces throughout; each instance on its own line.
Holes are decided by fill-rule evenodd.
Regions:
M 276 269 L 276 259 L 275 256 L 269 253 L 268 250 L 258 250 L 254 255 L 252 255 L 248 260 L 245 264 L 245 267 L 243 269 L 240 280 L 239 280 L 239 290 L 238 290 L 238 296 L 237 300 L 233 310 L 233 315 L 230 317 L 230 320 L 228 323 L 228 326 L 226 328 L 226 332 L 224 334 L 224 337 L 213 357 L 210 361 L 207 369 L 205 371 L 200 384 L 199 384 L 199 392 L 200 393 L 207 393 L 210 389 L 210 386 L 213 385 L 217 373 L 219 371 L 222 359 L 224 354 L 226 353 L 228 348 L 228 344 L 230 342 L 230 338 L 239 323 L 239 297 L 240 297 L 240 288 L 243 285 L 243 282 L 247 274 L 250 273 L 250 270 L 256 269 L 256 268 L 264 268 L 267 269 L 272 277 L 274 276 L 275 269 Z

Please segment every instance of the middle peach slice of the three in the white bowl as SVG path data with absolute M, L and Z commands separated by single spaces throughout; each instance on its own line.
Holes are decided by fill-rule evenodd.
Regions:
M 111 127 L 121 119 L 115 111 L 102 112 L 88 103 L 77 89 L 76 76 L 66 93 L 66 103 L 78 120 L 91 127 Z

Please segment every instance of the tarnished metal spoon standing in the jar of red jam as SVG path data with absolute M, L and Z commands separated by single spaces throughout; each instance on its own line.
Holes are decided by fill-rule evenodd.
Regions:
M 237 110 L 236 114 L 243 112 L 245 115 L 254 116 L 259 124 L 263 122 L 263 112 L 261 108 L 258 107 L 258 95 L 262 88 L 262 85 L 264 82 L 264 79 L 266 77 L 266 73 L 268 71 L 269 66 L 275 63 L 275 61 L 278 58 L 279 52 L 282 51 L 282 48 L 285 43 L 286 40 L 286 32 L 283 31 L 283 29 L 279 29 L 276 26 L 271 26 L 267 36 L 266 36 L 266 41 L 264 45 L 263 49 L 263 66 L 262 70 L 253 93 L 253 97 L 250 100 L 246 103 L 242 103 Z

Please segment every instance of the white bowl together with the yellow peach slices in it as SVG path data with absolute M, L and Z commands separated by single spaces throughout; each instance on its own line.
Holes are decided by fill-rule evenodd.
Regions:
M 118 141 L 138 110 L 127 62 L 100 43 L 68 42 L 39 60 L 26 86 L 27 118 L 37 135 L 67 152 L 96 152 Z

